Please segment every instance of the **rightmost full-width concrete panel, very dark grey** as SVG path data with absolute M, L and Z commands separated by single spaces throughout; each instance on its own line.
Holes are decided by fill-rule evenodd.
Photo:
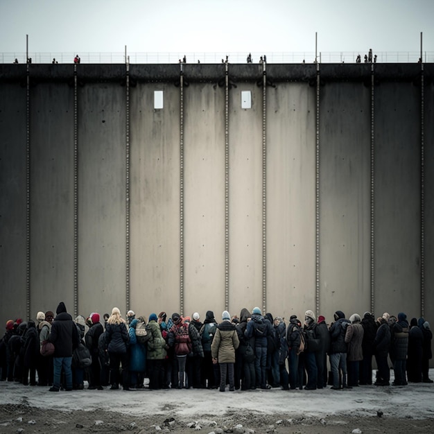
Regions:
M 375 87 L 376 313 L 420 309 L 420 87 Z

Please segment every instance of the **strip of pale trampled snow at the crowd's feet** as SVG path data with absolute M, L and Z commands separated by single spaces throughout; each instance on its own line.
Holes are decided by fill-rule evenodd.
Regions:
M 430 372 L 434 378 L 434 370 Z M 391 372 L 393 379 L 393 372 Z M 392 381 L 391 379 L 391 381 Z M 85 383 L 87 385 L 87 383 Z M 224 399 L 223 399 L 224 398 Z M 47 387 L 0 383 L 0 405 L 21 404 L 51 410 L 108 410 L 126 415 L 167 415 L 188 419 L 243 414 L 289 417 L 434 418 L 434 383 L 407 386 L 363 385 L 351 390 L 250 390 L 224 394 L 218 390 L 74 390 L 49 392 Z

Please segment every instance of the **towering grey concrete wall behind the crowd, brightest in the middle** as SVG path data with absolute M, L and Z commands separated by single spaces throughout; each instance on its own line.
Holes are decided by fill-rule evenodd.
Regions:
M 265 94 L 258 64 L 26 67 L 0 65 L 0 321 L 433 315 L 433 65 L 267 64 Z

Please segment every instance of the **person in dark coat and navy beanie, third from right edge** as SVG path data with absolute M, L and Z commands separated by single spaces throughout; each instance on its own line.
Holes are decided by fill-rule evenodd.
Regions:
M 392 385 L 407 385 L 406 359 L 408 352 L 408 321 L 407 315 L 398 313 L 398 321 L 392 325 L 392 344 L 390 347 L 393 361 L 394 382 Z

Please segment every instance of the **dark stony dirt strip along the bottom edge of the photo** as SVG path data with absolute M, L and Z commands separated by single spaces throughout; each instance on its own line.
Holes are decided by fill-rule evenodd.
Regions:
M 239 410 L 225 417 L 201 415 L 196 420 L 165 416 L 137 417 L 105 410 L 45 410 L 26 403 L 0 406 L 0 433 L 433 433 L 434 419 L 367 417 L 325 417 L 324 419 L 254 415 Z M 195 424 L 196 423 L 196 424 Z M 200 426 L 200 428 L 199 428 Z M 356 431 L 354 431 L 356 430 Z M 360 430 L 360 431 L 357 431 Z

